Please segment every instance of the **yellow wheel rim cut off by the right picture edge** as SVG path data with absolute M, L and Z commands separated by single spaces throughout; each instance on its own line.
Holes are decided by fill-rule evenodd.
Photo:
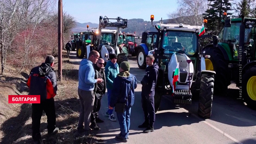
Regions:
M 256 76 L 252 76 L 246 85 L 248 96 L 256 101 Z

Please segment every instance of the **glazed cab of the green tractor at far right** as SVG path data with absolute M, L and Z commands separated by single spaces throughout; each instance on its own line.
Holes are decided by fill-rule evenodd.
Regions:
M 242 18 L 222 20 L 224 27 L 218 33 L 219 43 L 227 46 L 232 61 L 238 61 L 240 37 L 244 37 L 242 45 L 244 46 L 244 50 L 247 51 L 247 55 L 250 55 L 250 57 L 247 57 L 247 62 L 250 62 L 251 58 L 255 58 L 256 18 L 244 18 L 245 29 L 243 35 L 240 35 L 241 21 Z

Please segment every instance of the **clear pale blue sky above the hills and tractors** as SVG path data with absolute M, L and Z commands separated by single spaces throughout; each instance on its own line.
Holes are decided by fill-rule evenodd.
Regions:
M 58 4 L 57 4 L 58 5 Z M 79 23 L 98 24 L 99 16 L 125 19 L 142 18 L 150 21 L 168 19 L 168 14 L 177 8 L 176 0 L 62 0 L 63 12 L 76 18 Z

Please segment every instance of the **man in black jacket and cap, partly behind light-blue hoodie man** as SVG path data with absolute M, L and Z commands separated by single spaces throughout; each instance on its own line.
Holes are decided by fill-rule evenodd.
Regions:
M 94 64 L 95 70 L 95 79 L 102 78 L 101 83 L 96 83 L 94 86 L 95 101 L 93 112 L 91 113 L 91 125 L 90 128 L 93 130 L 99 130 L 97 123 L 103 123 L 104 121 L 99 118 L 99 110 L 101 106 L 102 96 L 105 95 L 106 91 L 106 77 L 105 77 L 105 68 L 104 60 L 99 58 L 97 63 Z

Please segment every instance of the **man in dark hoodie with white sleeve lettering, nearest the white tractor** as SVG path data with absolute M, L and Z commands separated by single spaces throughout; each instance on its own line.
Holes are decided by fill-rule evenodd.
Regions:
M 149 133 L 154 131 L 155 123 L 155 106 L 154 106 L 154 96 L 155 96 L 155 86 L 158 75 L 158 66 L 154 62 L 155 58 L 153 55 L 147 55 L 145 75 L 141 81 L 142 91 L 141 91 L 141 101 L 142 109 L 144 111 L 145 121 L 139 128 L 146 128 L 143 132 Z

